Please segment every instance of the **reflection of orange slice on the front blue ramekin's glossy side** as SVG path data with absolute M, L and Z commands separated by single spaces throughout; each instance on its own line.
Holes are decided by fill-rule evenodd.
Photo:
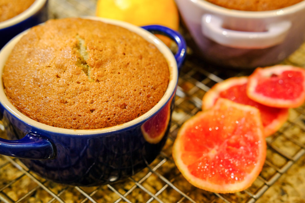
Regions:
M 170 102 L 154 117 L 141 126 L 142 134 L 149 143 L 156 144 L 163 138 L 170 121 Z

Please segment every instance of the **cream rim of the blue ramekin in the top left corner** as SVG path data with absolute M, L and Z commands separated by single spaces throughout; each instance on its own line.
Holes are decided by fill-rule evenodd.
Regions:
M 0 22 L 0 29 L 16 25 L 22 22 L 23 20 L 26 20 L 29 17 L 33 16 L 39 9 L 43 7 L 46 1 L 47 0 L 36 0 L 27 10 L 23 11 L 19 15 Z

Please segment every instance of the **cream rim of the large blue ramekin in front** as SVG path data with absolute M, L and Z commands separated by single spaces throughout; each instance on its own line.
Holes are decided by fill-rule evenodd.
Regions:
M 57 127 L 39 123 L 38 121 L 34 121 L 33 119 L 30 119 L 29 117 L 25 116 L 20 111 L 18 111 L 13 106 L 13 104 L 11 104 L 9 102 L 9 100 L 7 99 L 7 97 L 4 93 L 3 85 L 2 85 L 3 84 L 2 77 L 0 77 L 0 84 L 2 85 L 2 88 L 0 88 L 0 101 L 1 101 L 2 105 L 4 105 L 5 109 L 8 110 L 14 116 L 16 116 L 18 119 L 26 122 L 27 124 L 30 124 L 31 126 L 33 126 L 35 128 L 40 128 L 42 130 L 51 131 L 54 133 L 63 133 L 63 134 L 69 134 L 69 135 L 90 135 L 90 134 L 100 134 L 100 133 L 105 133 L 105 132 L 118 131 L 123 128 L 132 127 L 135 124 L 145 121 L 146 118 L 152 116 L 158 109 L 160 109 L 164 104 L 167 103 L 167 101 L 170 100 L 170 97 L 172 96 L 173 92 L 176 89 L 176 84 L 178 81 L 178 69 L 177 69 L 177 62 L 174 58 L 174 55 L 172 54 L 170 49 L 162 41 L 160 41 L 155 35 L 153 35 L 152 33 L 148 32 L 138 26 L 134 26 L 132 24 L 122 22 L 122 21 L 104 19 L 104 18 L 93 17 L 93 16 L 83 17 L 83 18 L 101 20 L 102 22 L 105 22 L 105 23 L 124 27 L 124 28 L 131 30 L 131 31 L 137 33 L 138 35 L 142 36 L 144 39 L 146 39 L 150 43 L 154 44 L 161 51 L 161 53 L 167 59 L 169 69 L 170 69 L 170 81 L 169 81 L 167 90 L 165 91 L 161 100 L 154 107 L 152 107 L 151 110 L 149 110 L 145 114 L 141 115 L 140 117 L 138 117 L 132 121 L 129 121 L 127 123 L 117 125 L 117 126 L 113 126 L 113 127 L 109 127 L 109 128 L 91 129 L 91 130 L 73 130 L 73 129 L 57 128 Z M 6 58 L 9 56 L 11 50 L 13 49 L 13 47 L 17 43 L 17 41 L 25 33 L 26 33 L 26 31 L 17 35 L 11 41 L 9 41 L 9 43 L 7 45 L 5 45 L 5 47 L 2 48 L 2 50 L 0 52 L 1 75 L 3 72 L 3 66 L 5 64 Z

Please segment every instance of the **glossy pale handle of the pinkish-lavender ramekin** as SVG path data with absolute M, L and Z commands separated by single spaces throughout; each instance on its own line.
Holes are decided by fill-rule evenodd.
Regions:
M 291 23 L 271 23 L 265 32 L 245 32 L 222 27 L 223 20 L 212 14 L 202 16 L 202 33 L 218 44 L 242 49 L 263 49 L 282 43 Z

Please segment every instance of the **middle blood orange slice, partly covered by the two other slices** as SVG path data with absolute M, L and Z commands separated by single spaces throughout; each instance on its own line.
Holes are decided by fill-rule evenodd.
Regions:
M 260 110 L 264 135 L 276 132 L 288 119 L 288 108 L 274 108 L 251 100 L 246 94 L 248 77 L 233 77 L 214 85 L 202 99 L 202 109 L 211 108 L 218 98 L 226 98 L 237 103 L 247 104 Z

